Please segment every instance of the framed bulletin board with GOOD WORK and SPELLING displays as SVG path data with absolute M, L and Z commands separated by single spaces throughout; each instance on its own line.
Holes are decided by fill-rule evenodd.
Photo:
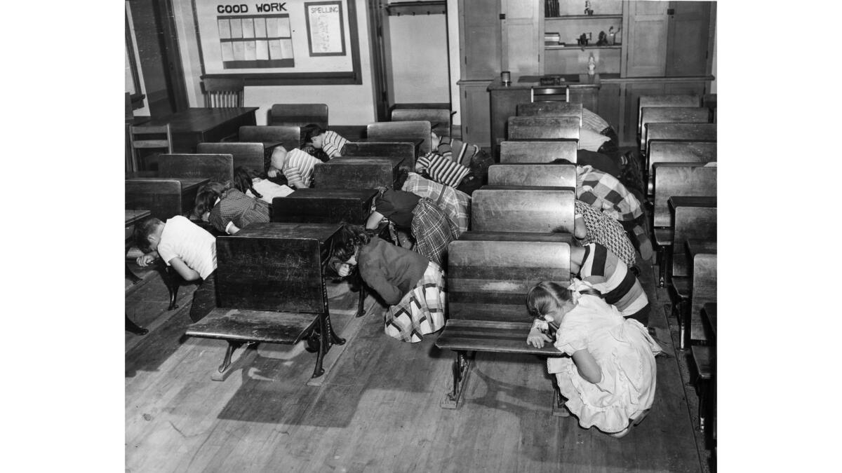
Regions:
M 355 0 L 193 0 L 202 77 L 360 84 Z

